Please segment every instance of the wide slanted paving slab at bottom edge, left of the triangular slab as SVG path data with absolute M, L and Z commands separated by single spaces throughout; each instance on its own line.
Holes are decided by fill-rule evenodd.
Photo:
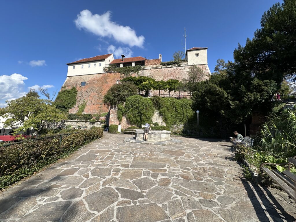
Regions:
M 51 202 L 42 205 L 32 213 L 25 215 L 19 221 L 21 222 L 41 222 L 41 221 L 59 221 L 67 208 L 70 201 Z M 54 212 L 54 213 L 53 213 Z

